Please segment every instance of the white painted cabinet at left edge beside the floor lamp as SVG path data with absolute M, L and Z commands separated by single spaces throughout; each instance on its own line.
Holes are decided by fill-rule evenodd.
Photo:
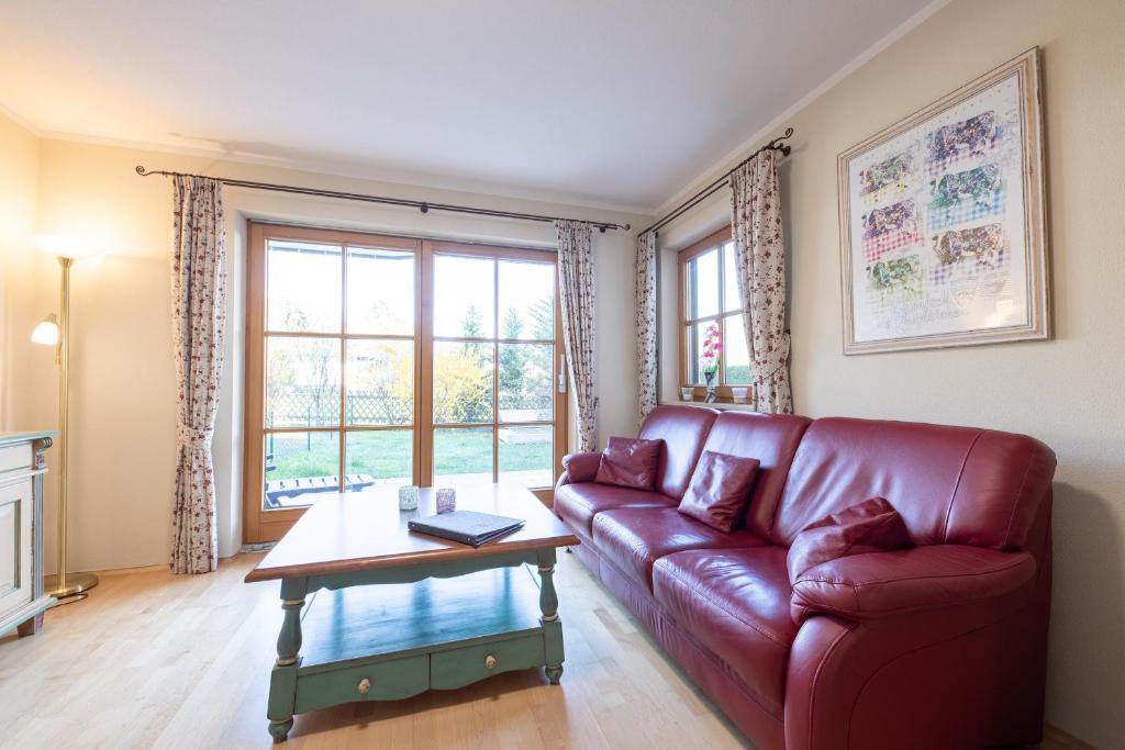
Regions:
M 0 634 L 36 632 L 43 593 L 43 476 L 54 433 L 0 434 Z

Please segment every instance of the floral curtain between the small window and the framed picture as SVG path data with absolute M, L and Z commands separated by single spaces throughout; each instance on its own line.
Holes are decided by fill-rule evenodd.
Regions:
M 767 414 L 792 414 L 776 152 L 766 148 L 735 170 L 730 188 L 735 264 L 755 408 Z

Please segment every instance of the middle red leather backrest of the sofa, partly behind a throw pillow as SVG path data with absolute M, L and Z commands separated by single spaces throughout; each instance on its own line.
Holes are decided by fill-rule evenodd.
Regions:
M 762 462 L 742 521 L 742 525 L 756 534 L 764 536 L 768 532 L 793 457 L 811 422 L 808 417 L 786 414 L 722 412 L 711 425 L 711 433 L 703 443 L 704 451 Z

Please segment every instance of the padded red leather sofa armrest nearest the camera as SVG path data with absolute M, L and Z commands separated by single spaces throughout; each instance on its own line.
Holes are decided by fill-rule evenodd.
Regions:
M 800 622 L 817 613 L 870 621 L 956 607 L 1012 594 L 1035 569 L 1027 552 L 960 544 L 856 554 L 801 573 L 791 608 Z

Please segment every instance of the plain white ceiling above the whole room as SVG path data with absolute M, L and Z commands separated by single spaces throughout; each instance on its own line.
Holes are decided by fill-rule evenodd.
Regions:
M 928 0 L 0 0 L 40 132 L 651 210 Z

